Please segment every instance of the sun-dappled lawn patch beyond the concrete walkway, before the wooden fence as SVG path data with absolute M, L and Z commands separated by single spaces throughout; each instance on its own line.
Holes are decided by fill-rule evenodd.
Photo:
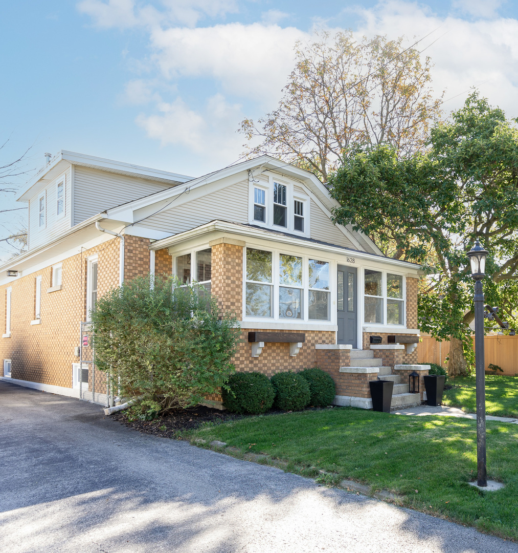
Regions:
M 450 378 L 448 384 L 454 388 L 445 390 L 443 405 L 476 413 L 475 376 Z M 487 415 L 518 418 L 518 377 L 485 375 L 485 411 Z

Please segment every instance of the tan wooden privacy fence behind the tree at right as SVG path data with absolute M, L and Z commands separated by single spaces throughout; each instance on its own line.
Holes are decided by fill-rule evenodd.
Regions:
M 422 336 L 422 342 L 417 344 L 417 363 L 437 363 L 447 366 L 445 358 L 450 353 L 450 342 L 439 342 L 431 336 Z M 474 338 L 473 338 L 474 341 Z M 484 341 L 485 367 L 489 363 L 498 365 L 503 373 L 518 374 L 518 336 L 490 335 Z

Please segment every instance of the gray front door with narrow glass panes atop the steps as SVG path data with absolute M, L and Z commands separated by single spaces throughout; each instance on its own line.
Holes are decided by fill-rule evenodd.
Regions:
M 338 319 L 337 343 L 358 347 L 358 270 L 355 267 L 338 266 L 338 295 L 336 302 Z

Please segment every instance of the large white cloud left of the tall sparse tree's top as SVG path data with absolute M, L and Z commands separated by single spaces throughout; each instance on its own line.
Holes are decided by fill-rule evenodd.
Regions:
M 166 79 L 212 77 L 226 92 L 274 107 L 293 69 L 293 46 L 307 35 L 288 27 L 230 23 L 154 29 L 151 44 Z

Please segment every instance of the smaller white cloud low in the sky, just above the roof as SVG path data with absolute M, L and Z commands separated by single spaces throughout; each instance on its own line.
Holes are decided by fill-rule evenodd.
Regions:
M 216 94 L 207 98 L 205 105 L 195 111 L 181 98 L 171 103 L 160 102 L 160 113 L 151 116 L 141 114 L 137 124 L 150 138 L 167 144 L 183 145 L 191 152 L 208 159 L 231 159 L 240 152 L 242 137 L 235 129 L 243 118 L 241 106 L 229 104 Z M 238 154 L 239 155 L 239 154 Z

